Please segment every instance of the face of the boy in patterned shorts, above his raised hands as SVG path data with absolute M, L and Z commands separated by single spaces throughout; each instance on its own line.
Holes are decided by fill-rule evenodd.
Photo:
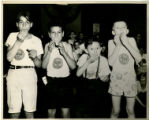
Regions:
M 116 22 L 113 26 L 113 32 L 115 35 L 127 34 L 127 25 L 125 22 Z

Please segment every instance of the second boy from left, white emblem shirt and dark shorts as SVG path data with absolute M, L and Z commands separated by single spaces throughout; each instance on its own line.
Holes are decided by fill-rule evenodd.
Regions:
M 76 67 L 71 45 L 63 42 L 63 27 L 59 24 L 49 27 L 51 41 L 45 45 L 42 68 L 47 70 L 48 117 L 55 117 L 56 108 L 62 108 L 64 118 L 69 116 L 72 88 L 70 70 Z

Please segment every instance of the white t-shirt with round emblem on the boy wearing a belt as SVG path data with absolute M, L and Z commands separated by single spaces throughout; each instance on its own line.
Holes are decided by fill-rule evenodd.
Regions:
M 12 47 L 17 40 L 18 32 L 10 33 L 5 45 Z M 41 40 L 31 34 L 29 39 L 25 39 L 20 48 L 18 49 L 15 57 L 11 61 L 11 65 L 16 66 L 34 66 L 34 62 L 29 58 L 27 50 L 34 49 L 37 51 L 37 56 L 43 54 L 43 47 Z

